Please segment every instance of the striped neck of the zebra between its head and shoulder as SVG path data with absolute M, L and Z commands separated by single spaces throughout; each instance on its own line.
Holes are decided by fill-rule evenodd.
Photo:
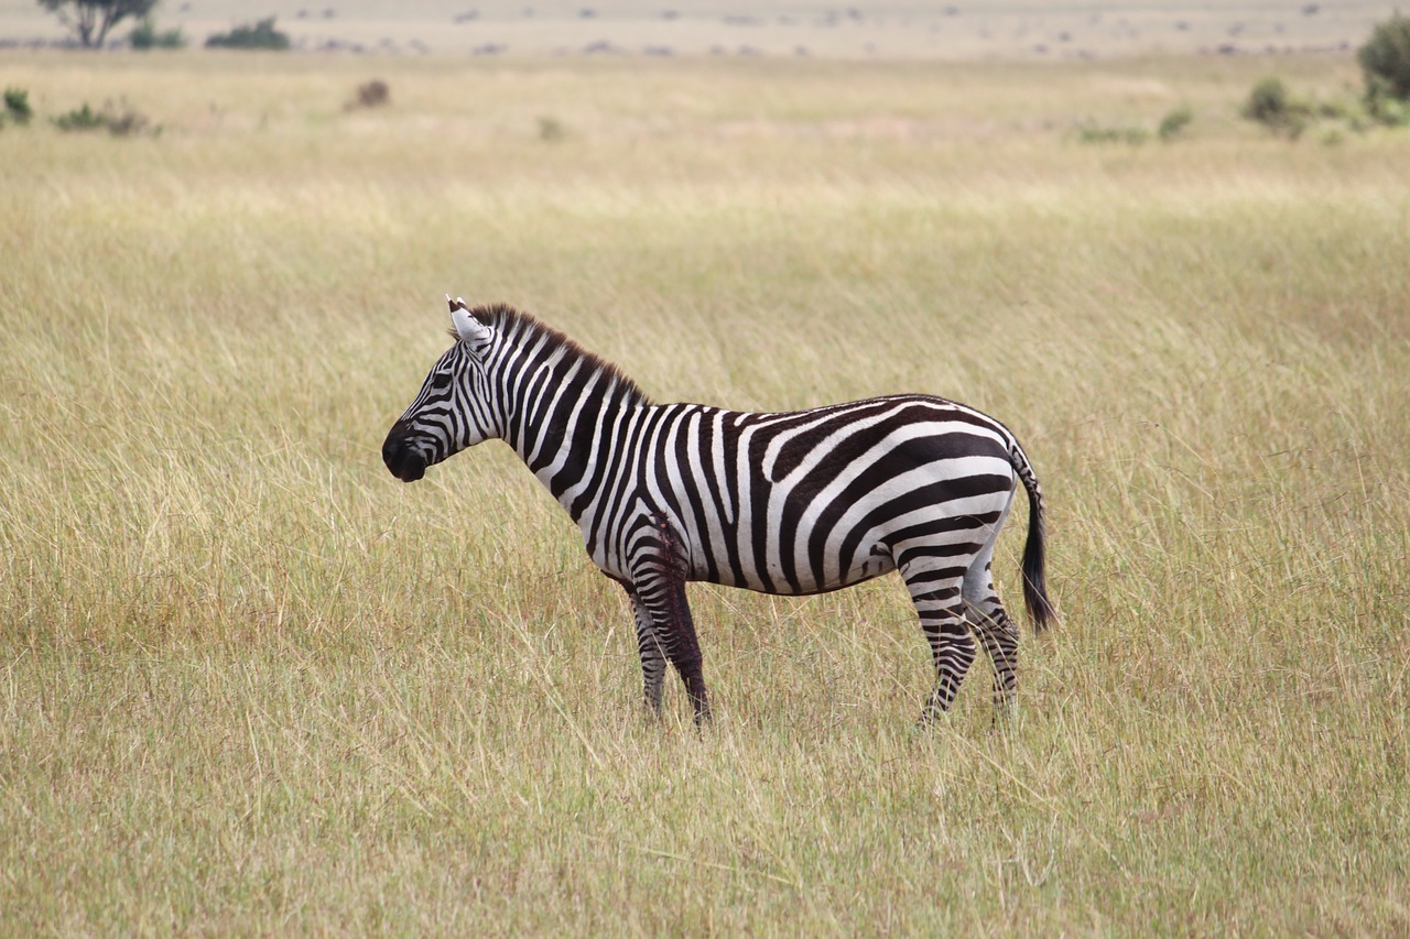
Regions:
M 578 520 L 606 477 L 611 441 L 646 398 L 616 369 L 568 357 L 539 368 L 509 400 L 506 443 Z

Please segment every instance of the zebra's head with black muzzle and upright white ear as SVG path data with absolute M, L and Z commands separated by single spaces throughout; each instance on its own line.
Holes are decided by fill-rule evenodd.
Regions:
M 382 461 L 402 482 L 416 482 L 465 447 L 499 436 L 485 357 L 495 331 L 461 299 L 451 300 L 455 344 L 431 367 L 410 407 L 382 443 Z

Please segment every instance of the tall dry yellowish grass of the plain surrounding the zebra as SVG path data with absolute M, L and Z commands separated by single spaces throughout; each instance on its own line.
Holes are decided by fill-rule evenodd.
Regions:
M 1410 134 L 1268 135 L 1272 70 L 1358 82 L 7 54 L 0 932 L 1410 931 Z M 104 99 L 161 133 L 45 120 Z M 716 722 L 647 720 L 506 447 L 381 464 L 446 292 L 660 400 L 1004 419 L 1018 712 L 914 729 L 887 578 L 694 587 Z

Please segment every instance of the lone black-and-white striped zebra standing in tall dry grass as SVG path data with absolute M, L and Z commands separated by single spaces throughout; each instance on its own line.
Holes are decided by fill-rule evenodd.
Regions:
M 811 410 L 656 405 L 618 367 L 530 313 L 450 299 L 453 345 L 392 424 L 382 460 L 413 482 L 450 455 L 508 443 L 582 532 L 632 605 L 646 706 L 670 663 L 697 725 L 709 720 L 687 581 L 822 594 L 900 571 L 948 711 L 979 637 L 995 713 L 1017 691 L 1018 627 L 990 563 L 1018 485 L 1028 492 L 1024 599 L 1055 616 L 1043 574 L 1043 498 L 1012 433 L 973 407 L 888 395 Z

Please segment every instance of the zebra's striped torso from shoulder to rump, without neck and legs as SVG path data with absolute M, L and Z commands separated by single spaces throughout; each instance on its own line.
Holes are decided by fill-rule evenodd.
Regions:
M 585 429 L 622 440 L 594 498 L 564 501 L 592 561 L 629 572 L 629 516 L 664 516 L 692 581 L 818 594 L 888 574 L 938 536 L 979 550 L 1012 499 L 1012 437 L 938 398 L 740 413 L 639 405 Z M 551 470 L 540 475 L 563 491 Z

